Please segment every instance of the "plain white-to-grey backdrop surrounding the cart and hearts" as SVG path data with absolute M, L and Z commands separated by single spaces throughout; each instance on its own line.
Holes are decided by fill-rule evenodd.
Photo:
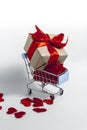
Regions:
M 87 130 L 86 12 L 86 0 L 0 0 L 0 92 L 5 99 L 0 103 L 0 129 Z M 45 105 L 48 111 L 40 114 L 20 104 L 20 99 L 27 97 L 28 82 L 21 54 L 35 24 L 45 33 L 63 32 L 69 37 L 64 64 L 70 78 L 61 85 L 64 95 L 57 96 L 52 106 Z M 6 115 L 11 106 L 27 114 L 21 119 Z

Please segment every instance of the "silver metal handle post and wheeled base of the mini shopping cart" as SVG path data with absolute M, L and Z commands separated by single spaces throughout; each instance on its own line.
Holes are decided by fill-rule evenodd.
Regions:
M 29 82 L 27 83 L 27 93 L 28 93 L 28 95 L 31 95 L 32 94 L 32 90 L 35 90 L 35 91 L 40 91 L 40 92 L 44 92 L 44 93 L 47 93 L 47 94 L 49 94 L 50 95 L 50 98 L 53 100 L 54 98 L 55 98 L 55 95 L 63 95 L 63 92 L 64 92 L 64 90 L 62 89 L 62 88 L 60 88 L 59 86 L 58 86 L 58 83 L 57 84 L 52 84 L 50 81 L 49 82 L 44 82 L 44 80 L 43 81 L 37 81 L 37 80 L 35 80 L 34 78 L 33 78 L 33 76 L 35 75 L 34 74 L 34 68 L 32 67 L 32 65 L 31 65 L 31 63 L 30 63 L 30 61 L 29 61 L 29 59 L 28 59 L 28 57 L 27 57 L 27 54 L 26 53 L 23 53 L 22 54 L 22 58 L 23 58 L 23 60 L 24 60 L 24 62 L 25 62 L 25 66 L 26 66 L 26 71 L 27 71 L 27 76 L 28 76 L 28 79 L 29 79 Z M 50 73 L 50 72 L 47 72 L 47 71 L 43 71 L 43 70 L 41 70 L 42 72 L 45 72 L 45 73 L 48 73 L 48 74 L 52 74 L 52 73 Z M 54 75 L 54 74 L 52 74 L 52 75 Z M 40 82 L 41 84 L 40 84 L 40 86 L 41 86 L 41 90 L 37 90 L 37 89 L 33 89 L 33 88 L 31 88 L 31 86 L 32 86 L 32 83 L 34 83 L 34 82 Z M 45 86 L 46 85 L 53 85 L 54 87 L 56 87 L 56 88 L 58 88 L 58 91 L 56 92 L 56 93 L 52 93 L 52 92 L 47 92 L 47 91 L 45 91 L 44 90 L 44 88 L 45 88 Z

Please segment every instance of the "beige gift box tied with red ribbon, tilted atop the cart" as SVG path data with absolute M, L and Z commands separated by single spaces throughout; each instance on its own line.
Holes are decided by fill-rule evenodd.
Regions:
M 67 53 L 64 46 L 68 40 L 64 34 L 44 34 L 37 26 L 37 32 L 29 34 L 24 50 L 34 69 L 44 69 L 49 64 L 61 64 L 65 61 Z M 66 39 L 66 40 L 65 40 Z

